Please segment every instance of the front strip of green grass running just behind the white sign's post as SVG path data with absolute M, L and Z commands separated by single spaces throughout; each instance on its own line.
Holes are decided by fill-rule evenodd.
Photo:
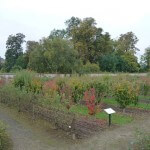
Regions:
M 70 111 L 75 114 L 91 117 L 88 114 L 88 109 L 86 106 L 74 105 L 71 107 Z M 97 119 L 108 120 L 108 115 L 105 112 L 99 112 L 93 117 L 95 117 Z M 127 115 L 122 115 L 122 114 L 118 114 L 118 113 L 112 115 L 112 123 L 117 124 L 117 125 L 124 125 L 124 124 L 130 123 L 132 120 L 133 120 L 133 118 L 130 116 L 127 116 Z

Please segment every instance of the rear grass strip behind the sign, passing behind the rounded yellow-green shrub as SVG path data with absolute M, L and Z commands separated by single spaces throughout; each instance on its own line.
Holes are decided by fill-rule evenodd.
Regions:
M 106 104 L 118 106 L 118 103 L 113 98 L 104 99 L 103 102 L 105 102 Z M 150 110 L 150 104 L 139 102 L 137 105 L 129 105 L 128 108 L 140 108 L 140 109 Z

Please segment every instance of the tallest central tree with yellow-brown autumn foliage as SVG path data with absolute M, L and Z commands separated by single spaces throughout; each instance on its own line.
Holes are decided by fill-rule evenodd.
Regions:
M 83 63 L 92 63 L 96 35 L 96 22 L 93 18 L 85 18 L 80 25 L 72 30 L 72 39 L 75 49 L 78 50 Z

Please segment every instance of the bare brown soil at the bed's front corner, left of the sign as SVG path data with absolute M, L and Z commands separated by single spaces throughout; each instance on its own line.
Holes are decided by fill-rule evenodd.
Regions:
M 108 127 L 105 120 L 79 117 L 72 112 L 64 112 L 52 107 L 46 109 L 34 105 L 32 115 L 34 118 L 41 118 L 52 122 L 57 128 L 63 129 L 70 134 L 75 134 L 79 138 L 91 136 Z

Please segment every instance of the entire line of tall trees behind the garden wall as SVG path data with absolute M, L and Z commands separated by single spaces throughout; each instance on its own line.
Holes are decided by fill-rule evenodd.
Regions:
M 108 32 L 96 26 L 94 18 L 72 17 L 65 22 L 66 29 L 51 31 L 40 41 L 27 41 L 25 35 L 10 35 L 6 41 L 4 72 L 30 69 L 38 73 L 96 73 L 143 72 L 150 69 L 150 47 L 146 48 L 140 63 L 137 61 L 138 38 L 133 32 L 111 38 Z

